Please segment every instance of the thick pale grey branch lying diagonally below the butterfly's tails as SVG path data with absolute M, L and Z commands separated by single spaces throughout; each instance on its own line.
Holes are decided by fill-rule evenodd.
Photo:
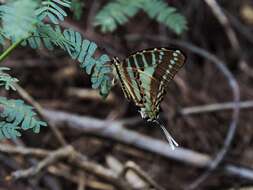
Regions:
M 48 117 L 48 119 L 57 123 L 57 126 L 67 125 L 68 127 L 77 129 L 85 134 L 109 138 L 114 141 L 155 153 L 165 158 L 183 162 L 194 167 L 208 168 L 212 162 L 210 156 L 182 147 L 178 147 L 172 151 L 170 148 L 168 148 L 168 144 L 166 142 L 143 136 L 137 132 L 125 129 L 122 126 L 122 122 L 111 121 L 110 123 L 106 123 L 104 120 L 91 117 L 81 117 L 60 111 L 45 110 L 45 115 Z M 224 164 L 222 169 L 229 175 L 253 181 L 253 170 L 251 169 L 238 167 L 231 164 Z

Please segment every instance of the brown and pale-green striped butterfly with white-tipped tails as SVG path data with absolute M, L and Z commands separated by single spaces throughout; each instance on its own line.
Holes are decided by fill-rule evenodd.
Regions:
M 141 117 L 158 124 L 172 149 L 178 146 L 169 132 L 158 121 L 160 104 L 169 82 L 184 65 L 186 57 L 180 50 L 154 48 L 138 51 L 123 61 L 114 57 L 114 75 L 124 96 L 140 108 Z

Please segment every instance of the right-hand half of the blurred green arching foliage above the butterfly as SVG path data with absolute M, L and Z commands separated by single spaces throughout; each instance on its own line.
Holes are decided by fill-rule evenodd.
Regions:
M 150 18 L 165 24 L 176 34 L 181 34 L 187 29 L 185 17 L 178 13 L 176 8 L 168 6 L 161 0 L 146 0 L 143 10 Z

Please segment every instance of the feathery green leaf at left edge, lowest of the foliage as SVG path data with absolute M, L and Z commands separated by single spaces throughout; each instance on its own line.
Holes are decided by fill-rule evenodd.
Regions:
M 20 131 L 32 129 L 39 133 L 40 128 L 47 124 L 36 118 L 31 106 L 25 105 L 22 100 L 8 100 L 0 97 L 1 113 L 0 118 L 0 139 L 16 138 L 21 135 Z

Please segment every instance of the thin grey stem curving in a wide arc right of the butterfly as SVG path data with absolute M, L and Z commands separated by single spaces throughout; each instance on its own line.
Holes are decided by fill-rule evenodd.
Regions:
M 128 36 L 128 38 L 131 39 L 136 39 L 137 35 L 131 35 Z M 137 37 L 138 38 L 138 37 Z M 177 46 L 181 46 L 182 48 L 186 48 L 191 52 L 194 52 L 198 54 L 201 57 L 204 57 L 205 59 L 211 61 L 220 71 L 221 73 L 226 77 L 228 84 L 230 88 L 232 89 L 233 93 L 233 100 L 234 100 L 234 109 L 233 109 L 233 114 L 232 114 L 232 121 L 229 124 L 229 130 L 227 132 L 226 138 L 223 143 L 223 147 L 220 149 L 220 151 L 217 153 L 216 157 L 209 163 L 209 169 L 200 176 L 200 178 L 197 179 L 196 183 L 193 182 L 193 184 L 190 186 L 190 189 L 196 188 L 200 183 L 205 181 L 207 177 L 220 165 L 220 163 L 223 161 L 225 155 L 227 154 L 232 140 L 235 136 L 235 132 L 237 129 L 237 124 L 239 121 L 239 112 L 240 112 L 240 107 L 239 107 L 239 102 L 240 102 L 240 91 L 239 91 L 239 86 L 237 84 L 237 81 L 235 80 L 234 76 L 231 74 L 231 72 L 227 69 L 225 66 L 226 64 L 218 59 L 215 55 L 209 53 L 208 51 L 197 47 L 193 44 L 187 43 L 187 42 L 182 42 L 174 39 L 168 39 L 167 37 L 153 37 L 150 35 L 142 35 L 142 39 L 147 38 L 149 40 L 153 41 L 167 41 L 168 43 L 172 43 Z

